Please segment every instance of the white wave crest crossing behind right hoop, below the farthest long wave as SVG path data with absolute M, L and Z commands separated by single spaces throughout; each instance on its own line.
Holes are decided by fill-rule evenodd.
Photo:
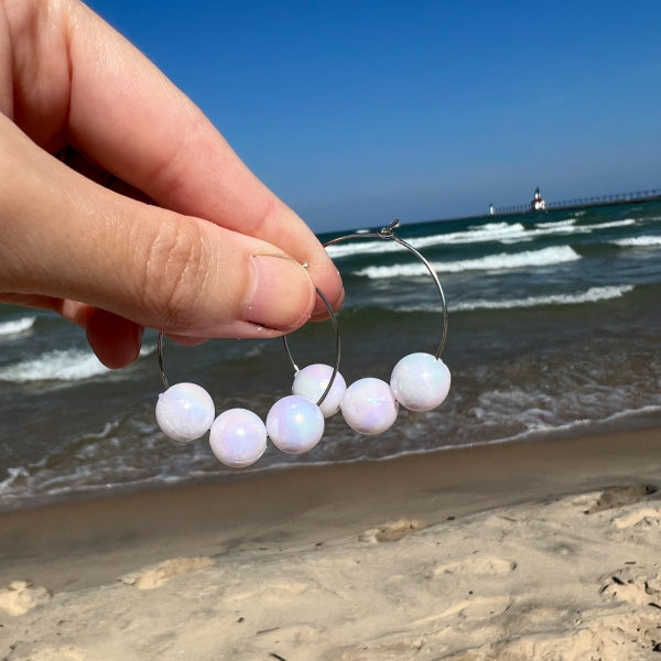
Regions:
M 438 273 L 459 273 L 462 271 L 497 271 L 525 267 L 549 267 L 581 259 L 570 246 L 524 250 L 522 252 L 488 254 L 478 259 L 464 259 L 455 262 L 434 262 L 432 268 Z M 422 263 L 393 264 L 391 267 L 367 267 L 356 271 L 355 275 L 370 279 L 425 275 L 427 270 Z

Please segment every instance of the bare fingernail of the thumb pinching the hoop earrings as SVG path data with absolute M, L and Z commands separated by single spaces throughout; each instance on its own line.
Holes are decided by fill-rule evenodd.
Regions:
M 306 322 L 314 305 L 314 286 L 305 269 L 285 256 L 258 254 L 251 261 L 254 280 L 245 321 L 284 332 Z

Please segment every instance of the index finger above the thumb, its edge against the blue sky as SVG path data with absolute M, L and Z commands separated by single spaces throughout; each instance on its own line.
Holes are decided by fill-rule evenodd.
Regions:
M 337 303 L 337 269 L 303 220 L 130 43 L 83 4 L 73 15 L 67 131 L 76 147 L 160 206 L 260 238 L 307 263 Z

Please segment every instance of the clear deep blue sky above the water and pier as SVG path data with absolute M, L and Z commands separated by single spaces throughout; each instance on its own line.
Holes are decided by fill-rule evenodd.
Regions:
M 91 0 L 316 231 L 661 187 L 661 2 Z

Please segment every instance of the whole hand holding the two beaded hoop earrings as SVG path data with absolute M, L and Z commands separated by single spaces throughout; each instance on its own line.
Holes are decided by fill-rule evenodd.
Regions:
M 313 232 L 138 50 L 76 0 L 0 0 L 0 302 L 118 368 L 144 327 L 293 330 L 327 314 L 315 284 L 342 304 Z

